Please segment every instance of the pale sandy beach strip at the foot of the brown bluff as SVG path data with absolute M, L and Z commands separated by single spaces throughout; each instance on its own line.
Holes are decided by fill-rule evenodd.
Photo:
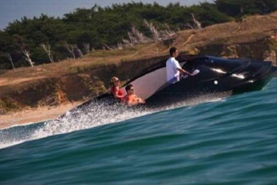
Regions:
M 80 103 L 82 102 L 64 103 L 55 107 L 44 106 L 39 108 L 29 108 L 20 112 L 1 115 L 0 130 L 55 119 L 68 110 L 78 106 Z

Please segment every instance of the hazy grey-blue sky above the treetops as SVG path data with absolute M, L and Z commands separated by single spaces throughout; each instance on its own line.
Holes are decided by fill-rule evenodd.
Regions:
M 48 16 L 62 17 L 63 14 L 73 12 L 76 8 L 91 8 L 94 4 L 104 7 L 132 1 L 143 3 L 156 1 L 161 5 L 180 2 L 183 5 L 192 5 L 204 0 L 0 0 L 0 29 L 8 26 L 9 22 L 20 20 L 23 16 L 33 18 L 43 13 Z

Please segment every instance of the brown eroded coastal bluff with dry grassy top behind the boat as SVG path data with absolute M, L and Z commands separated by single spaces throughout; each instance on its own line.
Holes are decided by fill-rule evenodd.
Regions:
M 85 101 L 106 92 L 112 76 L 125 82 L 154 63 L 166 60 L 171 46 L 187 54 L 252 58 L 272 61 L 277 66 L 277 12 L 251 16 L 240 22 L 212 25 L 201 30 L 180 31 L 176 38 L 145 44 L 139 49 L 111 51 L 103 56 L 38 67 L 39 77 L 30 76 L 34 74 L 31 70 L 35 69 L 8 72 L 10 76 L 16 75 L 25 80 L 18 80 L 18 83 L 6 80 L 1 83 L 1 77 L 8 78 L 4 78 L 5 74 L 0 75 L 0 114 L 26 107 Z M 89 61 L 92 61 L 93 66 L 84 67 Z M 70 64 L 70 67 L 62 71 L 61 66 L 65 64 Z

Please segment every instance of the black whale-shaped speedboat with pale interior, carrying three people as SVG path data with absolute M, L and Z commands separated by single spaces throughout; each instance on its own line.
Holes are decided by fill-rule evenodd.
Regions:
M 186 71 L 199 70 L 194 76 L 181 75 L 180 81 L 168 85 L 166 80 L 166 60 L 146 69 L 138 77 L 128 81 L 135 94 L 146 100 L 145 106 L 155 107 L 186 100 L 191 97 L 214 92 L 232 91 L 242 93 L 261 90 L 276 75 L 277 67 L 271 62 L 250 59 L 225 59 L 212 56 L 179 56 L 177 60 Z M 124 87 L 122 87 L 123 91 Z M 83 103 L 102 101 L 108 104 L 114 98 L 107 94 Z

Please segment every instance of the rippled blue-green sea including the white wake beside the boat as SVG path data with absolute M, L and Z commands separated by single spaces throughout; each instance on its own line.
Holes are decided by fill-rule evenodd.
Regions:
M 277 79 L 183 103 L 1 130 L 0 184 L 277 184 Z

